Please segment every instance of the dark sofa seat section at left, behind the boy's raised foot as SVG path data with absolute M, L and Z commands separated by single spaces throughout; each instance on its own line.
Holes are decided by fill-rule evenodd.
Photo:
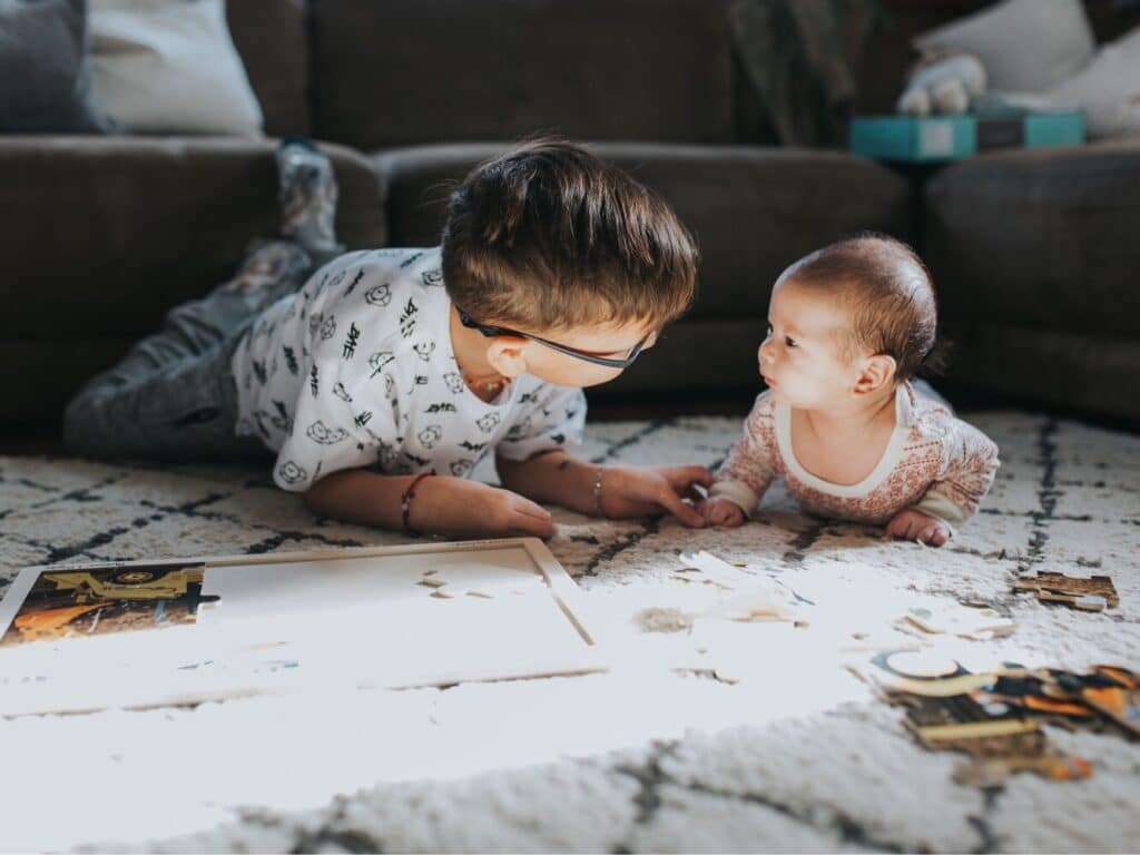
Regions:
M 272 150 L 239 139 L 0 140 L 0 210 L 19 212 L 5 219 L 19 251 L 0 253 L 0 356 L 18 386 L 6 421 L 58 418 L 83 380 L 227 278 L 251 238 L 277 234 Z M 326 150 L 340 239 L 382 245 L 370 164 Z

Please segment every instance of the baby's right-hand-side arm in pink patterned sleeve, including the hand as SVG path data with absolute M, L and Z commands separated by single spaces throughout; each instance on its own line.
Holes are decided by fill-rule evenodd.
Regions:
M 982 431 L 958 418 L 946 430 L 945 463 L 938 479 L 913 507 L 901 511 L 887 535 L 942 546 L 955 526 L 969 520 L 993 484 L 1000 465 L 997 446 Z

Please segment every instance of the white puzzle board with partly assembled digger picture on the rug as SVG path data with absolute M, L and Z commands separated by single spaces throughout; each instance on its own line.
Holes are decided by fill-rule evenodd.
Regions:
M 27 568 L 0 715 L 603 670 L 535 538 Z

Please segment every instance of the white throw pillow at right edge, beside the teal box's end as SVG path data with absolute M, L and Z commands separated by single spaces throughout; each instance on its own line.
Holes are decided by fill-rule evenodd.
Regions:
M 1140 27 L 1106 44 L 1081 73 L 1054 87 L 1057 109 L 1084 111 L 1092 139 L 1140 136 Z

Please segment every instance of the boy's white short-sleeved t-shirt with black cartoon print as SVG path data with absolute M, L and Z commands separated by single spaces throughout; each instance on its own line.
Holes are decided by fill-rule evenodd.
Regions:
M 465 478 L 487 454 L 524 459 L 581 440 L 580 389 L 516 378 L 494 405 L 463 382 L 433 250 L 342 255 L 258 318 L 234 355 L 237 433 L 277 451 L 303 491 L 344 469 Z

